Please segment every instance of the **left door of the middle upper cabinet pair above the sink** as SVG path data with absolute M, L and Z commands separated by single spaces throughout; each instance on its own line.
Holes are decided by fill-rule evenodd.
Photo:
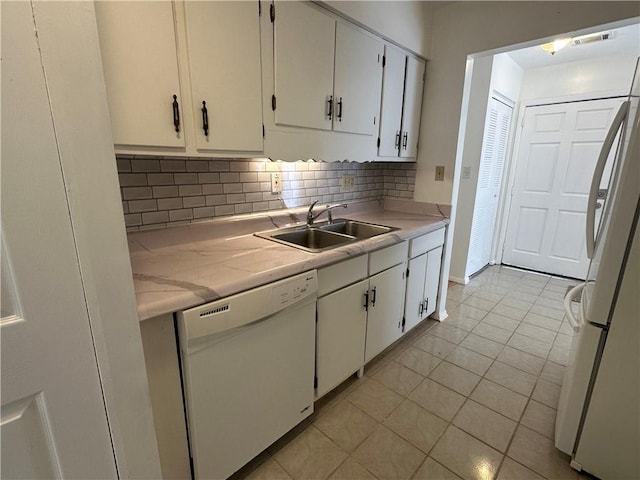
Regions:
M 275 9 L 275 122 L 331 130 L 336 22 L 301 2 L 277 2 Z

